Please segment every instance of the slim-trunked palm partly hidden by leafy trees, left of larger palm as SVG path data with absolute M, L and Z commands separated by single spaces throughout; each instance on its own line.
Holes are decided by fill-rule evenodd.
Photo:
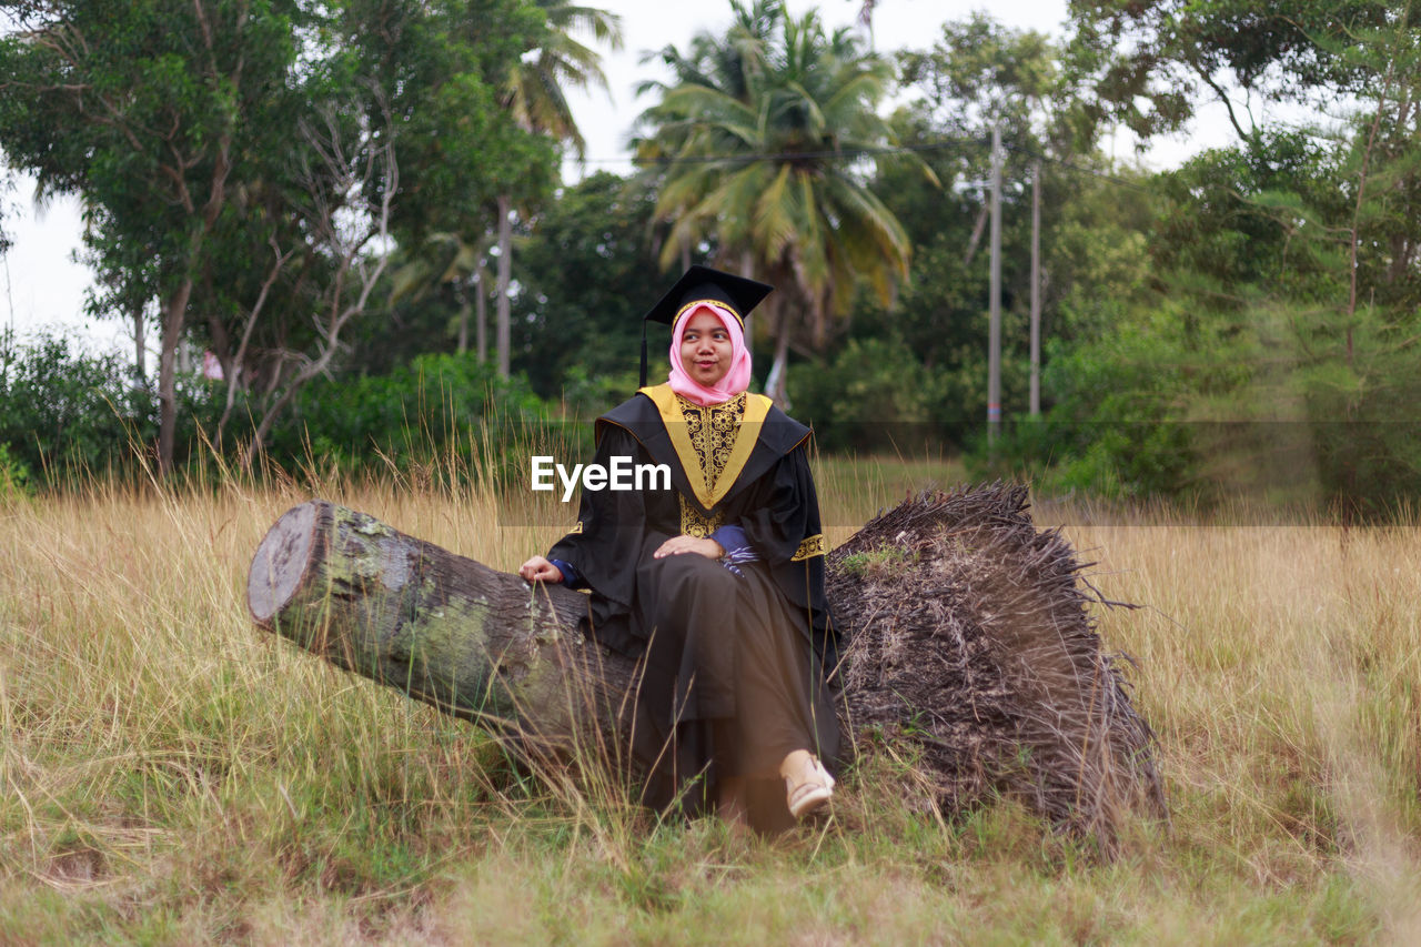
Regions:
M 591 31 L 598 43 L 621 48 L 621 17 L 595 7 L 581 7 L 566 0 L 533 0 L 543 10 L 547 26 L 543 43 L 510 70 L 503 84 L 503 102 L 524 131 L 551 135 L 573 146 L 578 159 L 587 142 L 577 129 L 567 104 L 567 88 L 600 85 L 607 88 L 600 55 L 571 37 L 573 31 Z M 497 316 L 499 374 L 509 374 L 509 283 L 513 266 L 513 195 L 497 198 L 497 276 L 495 280 Z

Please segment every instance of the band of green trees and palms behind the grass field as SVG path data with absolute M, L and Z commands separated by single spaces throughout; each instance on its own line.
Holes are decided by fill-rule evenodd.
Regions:
M 117 363 L 48 343 L 26 361 L 11 344 L 7 392 L 33 405 L 6 405 L 0 464 L 36 481 L 63 452 L 34 434 L 45 424 L 85 462 L 129 435 L 180 462 L 198 421 L 226 432 L 220 449 L 257 435 L 286 459 L 317 445 L 384 464 L 377 445 L 421 429 L 453 444 L 429 391 L 409 392 L 489 381 L 463 353 L 490 283 L 526 380 L 500 382 L 495 410 L 441 402 L 487 425 L 541 412 L 536 397 L 600 412 L 634 384 L 655 273 L 695 257 L 777 286 L 752 320 L 774 341 L 766 388 L 793 388 L 826 449 L 961 449 L 982 475 L 1047 489 L 1246 491 L 1349 515 L 1421 492 L 1410 7 L 1101 0 L 1073 4 L 1063 43 L 976 14 L 881 57 L 779 0 L 732 3 L 723 31 L 657 54 L 671 81 L 645 85 L 642 173 L 566 188 L 556 159 L 580 134 L 563 92 L 600 81 L 574 33 L 615 37 L 598 10 L 6 9 L 21 28 L 0 43 L 0 144 L 44 193 L 85 196 L 94 309 L 158 313 L 166 330 L 156 407 Z M 1104 132 L 1181 129 L 1209 100 L 1232 107 L 1231 146 L 1160 172 L 1101 154 Z M 1280 102 L 1314 111 L 1280 122 Z M 1009 437 L 989 452 L 993 127 Z M 1019 417 L 1033 178 L 1042 422 Z M 179 343 L 213 351 L 227 382 L 180 377 Z M 652 336 L 657 360 L 664 344 Z M 47 394 L 41 365 L 112 394 L 104 408 L 61 381 Z M 105 410 L 129 434 L 75 419 Z

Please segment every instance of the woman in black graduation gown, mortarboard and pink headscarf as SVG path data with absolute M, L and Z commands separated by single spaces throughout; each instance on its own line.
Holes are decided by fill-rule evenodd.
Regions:
M 836 657 L 809 428 L 750 395 L 745 316 L 763 283 L 695 266 L 648 313 L 666 384 L 597 419 L 597 464 L 665 464 L 669 489 L 583 491 L 527 582 L 590 589 L 591 634 L 645 657 L 632 754 L 642 801 L 783 828 L 823 808 L 838 751 Z

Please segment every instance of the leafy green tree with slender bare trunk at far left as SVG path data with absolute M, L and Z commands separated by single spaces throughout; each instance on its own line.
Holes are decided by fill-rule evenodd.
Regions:
M 253 132 L 294 92 L 293 0 L 7 3 L 0 144 L 44 192 L 82 193 L 112 243 L 161 262 L 159 469 L 172 468 L 175 360 L 209 242 L 240 192 Z

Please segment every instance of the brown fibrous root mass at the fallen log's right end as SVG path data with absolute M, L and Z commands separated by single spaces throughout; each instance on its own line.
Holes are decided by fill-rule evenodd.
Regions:
M 1005 483 L 922 493 L 830 553 L 845 729 L 918 749 L 917 805 L 1017 798 L 1107 855 L 1128 812 L 1165 816 L 1154 732 L 1090 611 L 1120 603 L 1083 567 Z

